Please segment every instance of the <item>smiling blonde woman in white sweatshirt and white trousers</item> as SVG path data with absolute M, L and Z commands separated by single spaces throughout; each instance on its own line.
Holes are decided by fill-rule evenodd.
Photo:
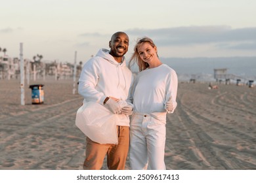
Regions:
M 176 72 L 161 63 L 152 39 L 135 45 L 129 66 L 137 62 L 139 73 L 128 102 L 133 103 L 130 124 L 131 169 L 165 169 L 165 124 L 167 112 L 177 107 Z

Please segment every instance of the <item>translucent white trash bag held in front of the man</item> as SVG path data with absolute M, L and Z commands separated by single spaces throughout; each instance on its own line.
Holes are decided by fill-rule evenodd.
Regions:
M 99 103 L 83 104 L 77 110 L 75 125 L 92 141 L 118 143 L 115 114 Z

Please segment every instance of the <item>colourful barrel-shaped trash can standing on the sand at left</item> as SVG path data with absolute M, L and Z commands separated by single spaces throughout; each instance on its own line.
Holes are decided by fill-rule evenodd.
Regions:
M 43 84 L 32 84 L 32 104 L 42 104 L 44 100 Z

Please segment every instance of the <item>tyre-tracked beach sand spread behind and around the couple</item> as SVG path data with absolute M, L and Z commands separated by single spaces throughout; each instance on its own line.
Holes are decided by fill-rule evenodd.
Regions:
M 30 84 L 45 84 L 43 104 L 32 105 L 26 85 L 20 105 L 20 82 L 0 80 L 0 169 L 82 169 L 85 136 L 75 126 L 82 97 L 72 94 L 72 80 Z M 177 103 L 167 115 L 167 169 L 256 169 L 256 88 L 179 83 Z

